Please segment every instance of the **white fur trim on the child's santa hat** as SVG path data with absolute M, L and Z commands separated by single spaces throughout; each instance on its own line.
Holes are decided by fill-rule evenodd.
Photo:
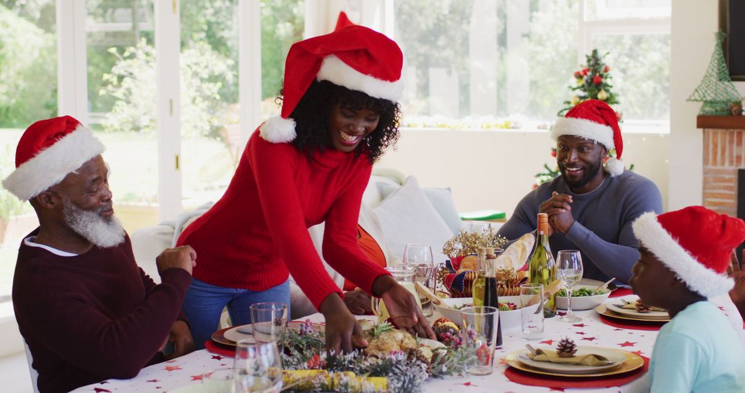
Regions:
M 707 269 L 665 231 L 653 212 L 644 213 L 632 224 L 638 240 L 665 263 L 691 290 L 711 298 L 729 292 L 735 281 Z

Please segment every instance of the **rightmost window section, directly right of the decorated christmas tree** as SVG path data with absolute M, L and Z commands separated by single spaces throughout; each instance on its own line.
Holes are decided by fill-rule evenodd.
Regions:
M 583 0 L 582 51 L 607 53 L 624 131 L 669 132 L 671 0 Z

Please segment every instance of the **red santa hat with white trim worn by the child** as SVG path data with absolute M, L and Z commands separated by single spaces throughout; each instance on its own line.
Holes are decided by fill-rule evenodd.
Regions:
M 703 206 L 656 216 L 645 213 L 632 224 L 636 238 L 688 288 L 710 298 L 735 285 L 726 270 L 732 249 L 745 240 L 745 223 Z

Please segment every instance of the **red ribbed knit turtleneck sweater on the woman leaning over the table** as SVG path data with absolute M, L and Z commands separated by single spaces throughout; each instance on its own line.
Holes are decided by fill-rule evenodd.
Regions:
M 197 251 L 194 277 L 208 284 L 267 290 L 292 273 L 315 307 L 339 288 L 323 267 L 308 227 L 326 221 L 323 257 L 371 292 L 387 274 L 361 252 L 357 220 L 372 164 L 326 150 L 308 159 L 286 143 L 248 141 L 223 197 L 181 234 Z

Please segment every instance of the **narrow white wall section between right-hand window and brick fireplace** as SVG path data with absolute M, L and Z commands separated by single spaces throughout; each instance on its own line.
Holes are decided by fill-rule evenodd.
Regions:
M 701 103 L 685 99 L 706 73 L 717 29 L 717 0 L 673 0 L 668 199 L 671 210 L 702 202 L 703 135 L 696 128 Z

